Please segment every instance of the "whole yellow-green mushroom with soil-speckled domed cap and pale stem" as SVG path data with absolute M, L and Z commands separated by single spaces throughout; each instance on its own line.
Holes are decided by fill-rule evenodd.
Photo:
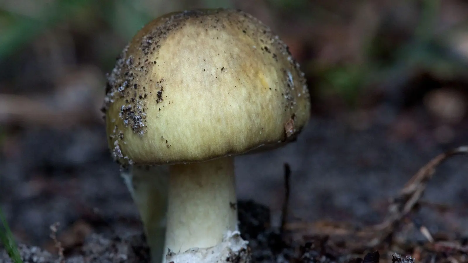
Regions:
M 166 259 L 234 253 L 234 156 L 293 141 L 310 117 L 288 47 L 240 10 L 171 13 L 132 38 L 108 80 L 103 110 L 115 159 L 169 166 Z

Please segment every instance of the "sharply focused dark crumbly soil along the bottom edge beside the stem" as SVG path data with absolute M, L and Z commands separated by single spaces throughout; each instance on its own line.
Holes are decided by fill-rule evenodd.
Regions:
M 454 241 L 396 244 L 393 248 L 380 247 L 383 256 L 374 248 L 366 247 L 365 242 L 356 241 L 355 236 L 332 238 L 330 235 L 303 236 L 302 241 L 291 239 L 291 233 L 280 234 L 271 226 L 270 210 L 253 201 L 240 201 L 238 204 L 242 237 L 249 241 L 252 262 L 255 263 L 414 263 L 415 258 L 401 256 L 393 250 L 417 256 L 419 262 L 446 262 L 457 256 L 466 258 L 467 239 L 457 246 Z M 378 233 L 375 233 L 378 234 Z M 344 239 L 343 239 L 344 238 Z M 358 238 L 359 239 L 359 238 Z M 364 238 L 363 238 L 364 239 Z M 361 240 L 363 241 L 363 240 Z M 397 248 L 400 247 L 400 248 Z M 375 248 L 377 249 L 377 248 Z M 61 255 L 34 246 L 19 245 L 25 263 L 149 263 L 149 248 L 144 234 L 118 236 L 91 233 L 83 243 L 68 248 Z M 367 252 L 366 252 L 367 251 Z M 363 258 L 360 255 L 365 255 Z M 0 262 L 12 263 L 6 251 L 0 250 Z

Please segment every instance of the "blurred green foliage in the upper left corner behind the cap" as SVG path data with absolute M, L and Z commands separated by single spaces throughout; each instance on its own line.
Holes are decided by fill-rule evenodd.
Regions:
M 232 7 L 227 0 L 197 2 L 193 1 L 194 7 Z M 0 60 L 21 50 L 44 31 L 56 27 L 92 28 L 103 23 L 116 36 L 129 40 L 146 22 L 184 6 L 187 5 L 183 1 L 150 0 L 4 1 L 0 3 Z M 119 51 L 109 53 L 115 58 Z

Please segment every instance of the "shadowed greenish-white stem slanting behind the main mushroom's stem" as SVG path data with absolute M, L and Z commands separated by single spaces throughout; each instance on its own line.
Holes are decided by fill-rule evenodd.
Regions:
M 166 166 L 133 166 L 122 177 L 137 205 L 153 263 L 164 256 L 168 197 Z

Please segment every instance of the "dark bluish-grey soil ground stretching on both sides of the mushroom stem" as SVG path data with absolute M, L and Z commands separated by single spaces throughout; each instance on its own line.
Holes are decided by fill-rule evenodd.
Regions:
M 238 196 L 253 200 L 239 202 L 239 217 L 254 262 L 317 262 L 317 258 L 344 262 L 372 252 L 365 246 L 353 252 L 328 245 L 328 224 L 360 229 L 381 222 L 389 198 L 418 168 L 466 141 L 463 125 L 455 131 L 459 135 L 452 145 L 440 145 L 429 129 L 402 140 L 389 125 L 374 123 L 356 131 L 342 120 L 314 118 L 297 142 L 270 153 L 238 157 Z M 5 144 L 0 159 L 0 200 L 17 240 L 27 244 L 20 245 L 26 262 L 57 259 L 50 237 L 50 226 L 56 222 L 66 262 L 147 262 L 139 217 L 111 161 L 102 125 L 17 134 L 10 142 L 14 146 Z M 455 157 L 438 168 L 424 196 L 430 205 L 423 205 L 412 219 L 440 240 L 460 240 L 460 244 L 468 234 L 464 158 Z M 283 163 L 289 163 L 292 174 L 287 234 L 280 235 Z M 332 232 L 340 227 L 334 226 Z M 400 234 L 405 242 L 427 243 L 417 227 L 405 229 Z M 395 251 L 413 255 L 414 248 L 382 247 L 380 253 L 388 260 Z M 0 255 L 8 262 L 6 253 Z

